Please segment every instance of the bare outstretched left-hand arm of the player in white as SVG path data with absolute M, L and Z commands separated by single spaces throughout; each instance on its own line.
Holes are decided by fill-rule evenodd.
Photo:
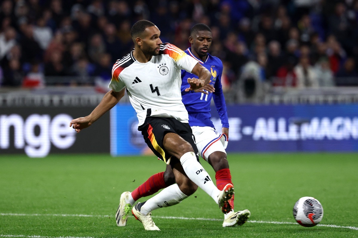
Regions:
M 91 126 L 93 122 L 97 121 L 101 116 L 111 110 L 111 108 L 119 102 L 119 100 L 124 96 L 124 92 L 125 88 L 120 92 L 115 92 L 113 90 L 108 91 L 102 98 L 100 104 L 98 104 L 98 106 L 91 112 L 91 114 L 85 117 L 78 117 L 73 119 L 69 123 L 69 126 L 72 126 L 77 133 L 82 129 Z

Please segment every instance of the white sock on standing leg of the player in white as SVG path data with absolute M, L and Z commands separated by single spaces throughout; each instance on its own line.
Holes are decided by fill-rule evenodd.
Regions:
M 173 206 L 182 202 L 187 197 L 189 196 L 180 191 L 178 184 L 175 183 L 164 188 L 160 193 L 146 201 L 140 208 L 140 213 L 146 216 L 155 209 Z

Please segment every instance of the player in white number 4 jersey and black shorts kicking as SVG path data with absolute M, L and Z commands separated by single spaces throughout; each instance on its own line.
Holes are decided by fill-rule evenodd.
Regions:
M 219 190 L 198 162 L 198 150 L 180 92 L 180 70 L 199 77 L 188 79 L 185 91 L 207 85 L 210 72 L 178 47 L 163 44 L 158 27 L 150 21 L 137 21 L 131 28 L 131 36 L 134 50 L 113 66 L 108 86 L 111 90 L 88 116 L 73 119 L 70 126 L 80 132 L 92 125 L 115 106 L 127 90 L 137 112 L 138 130 L 154 154 L 170 164 L 176 179 L 176 184 L 132 208 L 132 214 L 142 222 L 145 230 L 160 230 L 151 218 L 151 211 L 180 203 L 198 186 L 214 199 L 223 213 L 229 212 L 233 186 L 226 184 Z

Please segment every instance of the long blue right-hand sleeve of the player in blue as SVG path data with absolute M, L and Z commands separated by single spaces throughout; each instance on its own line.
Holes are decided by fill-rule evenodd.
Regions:
M 221 61 L 220 61 L 220 63 L 221 63 Z M 213 100 L 214 100 L 216 110 L 218 111 L 222 127 L 229 128 L 229 120 L 228 120 L 228 116 L 227 116 L 226 102 L 225 102 L 224 93 L 223 93 L 222 85 L 221 85 L 221 75 L 223 72 L 222 63 L 221 63 L 221 68 L 218 71 L 219 71 L 218 72 L 219 74 L 218 74 L 218 76 L 216 78 L 216 82 L 214 84 L 215 92 L 213 92 Z

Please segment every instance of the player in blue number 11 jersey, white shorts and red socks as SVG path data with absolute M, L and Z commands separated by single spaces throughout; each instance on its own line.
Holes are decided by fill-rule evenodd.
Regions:
M 185 91 L 189 87 L 188 78 L 195 75 L 182 70 L 182 101 L 189 114 L 189 125 L 195 136 L 199 154 L 207 161 L 216 172 L 216 185 L 219 190 L 230 183 L 231 173 L 227 161 L 225 148 L 229 135 L 229 123 L 226 111 L 225 98 L 221 86 L 221 76 L 223 65 L 220 59 L 208 54 L 211 46 L 211 29 L 205 24 L 197 24 L 190 31 L 189 42 L 192 45 L 185 53 L 208 69 L 211 74 L 211 83 L 195 91 Z M 212 93 L 211 93 L 212 92 Z M 210 103 L 214 100 L 222 123 L 222 133 L 214 128 L 211 118 Z M 165 172 L 157 173 L 151 176 L 145 183 L 137 187 L 133 192 L 124 192 L 121 194 L 120 205 L 116 213 L 116 222 L 118 226 L 125 226 L 128 214 L 135 201 L 141 197 L 146 197 L 159 191 L 159 189 L 170 186 L 175 183 L 171 167 L 168 165 Z M 224 214 L 223 227 L 233 227 L 244 224 L 250 217 L 250 211 L 243 210 L 234 212 L 234 199 L 229 203 L 232 210 Z

